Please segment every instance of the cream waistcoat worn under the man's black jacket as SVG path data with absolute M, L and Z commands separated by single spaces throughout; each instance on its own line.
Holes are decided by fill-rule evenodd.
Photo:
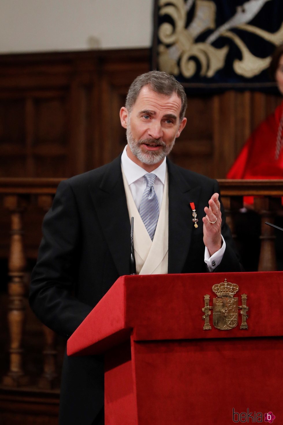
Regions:
M 168 176 L 166 172 L 163 197 L 159 212 L 159 218 L 151 240 L 140 213 L 131 194 L 129 184 L 122 169 L 123 182 L 126 192 L 129 218 L 134 217 L 134 256 L 136 260 L 137 274 L 158 275 L 168 273 Z

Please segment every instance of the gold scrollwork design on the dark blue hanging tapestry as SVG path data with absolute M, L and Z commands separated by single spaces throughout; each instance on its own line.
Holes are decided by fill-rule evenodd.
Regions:
M 269 66 L 271 57 L 262 58 L 252 54 L 245 44 L 245 33 L 258 37 L 258 43 L 261 40 L 267 40 L 274 45 L 280 45 L 283 42 L 283 23 L 274 33 L 250 24 L 254 17 L 264 13 L 263 6 L 269 1 L 271 0 L 242 0 L 241 5 L 235 6 L 234 15 L 217 27 L 217 2 L 215 1 L 159 0 L 159 15 L 170 17 L 168 22 L 163 22 L 158 28 L 160 71 L 166 71 L 175 76 L 181 74 L 189 79 L 196 74 L 197 63 L 199 63 L 200 76 L 212 78 L 217 71 L 225 68 L 232 41 L 241 53 L 240 59 L 234 59 L 234 72 L 246 78 L 260 74 Z M 187 23 L 188 13 L 193 6 L 192 20 Z M 207 31 L 211 31 L 211 34 L 204 42 L 196 41 L 200 34 Z M 243 38 L 240 37 L 242 34 Z M 221 48 L 215 47 L 212 43 L 220 38 L 227 42 Z

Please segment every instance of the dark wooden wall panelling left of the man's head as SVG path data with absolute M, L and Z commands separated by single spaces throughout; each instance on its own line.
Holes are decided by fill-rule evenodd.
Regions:
M 0 176 L 69 177 L 113 159 L 120 105 L 148 69 L 148 51 L 1 56 Z

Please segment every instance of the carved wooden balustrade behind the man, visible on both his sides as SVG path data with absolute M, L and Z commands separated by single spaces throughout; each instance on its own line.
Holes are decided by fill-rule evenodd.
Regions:
M 9 301 L 7 306 L 7 320 L 9 327 L 9 368 L 2 377 L 4 388 L 28 387 L 29 376 L 23 366 L 23 336 L 29 332 L 24 328 L 27 309 L 26 284 L 26 257 L 32 250 L 26 249 L 24 243 L 23 217 L 29 213 L 32 205 L 43 218 L 43 214 L 50 208 L 61 179 L 56 178 L 0 178 L 0 196 L 2 209 L 10 214 L 10 242 L 6 257 L 9 258 Z M 226 209 L 226 216 L 232 234 L 237 238 L 234 217 L 243 211 L 243 196 L 253 195 L 252 210 L 257 213 L 260 223 L 260 256 L 258 270 L 276 270 L 276 256 L 274 249 L 274 228 L 266 226 L 265 221 L 274 223 L 278 216 L 282 216 L 281 197 L 283 197 L 283 181 L 281 180 L 220 180 L 222 201 Z M 190 219 L 190 218 L 188 218 Z M 32 224 L 32 223 L 31 223 Z M 5 224 L 1 224 L 5 225 Z M 7 225 L 7 224 L 6 224 Z M 1 232 L 2 234 L 2 232 Z M 40 232 L 37 235 L 40 242 Z M 25 329 L 25 330 L 24 330 Z M 37 379 L 37 388 L 50 390 L 57 388 L 58 372 L 56 370 L 57 351 L 55 336 L 45 326 L 42 328 L 45 338 L 45 347 L 42 352 L 42 376 Z M 1 342 L 0 342 L 1 343 Z M 30 348 L 31 349 L 31 348 Z

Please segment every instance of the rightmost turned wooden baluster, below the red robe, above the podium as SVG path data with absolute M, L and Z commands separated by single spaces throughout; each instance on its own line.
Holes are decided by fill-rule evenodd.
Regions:
M 261 220 L 259 272 L 277 270 L 274 229 L 265 222 L 274 224 L 274 216 L 276 211 L 280 209 L 280 205 L 281 198 L 270 196 L 254 198 L 254 209 L 260 214 Z

